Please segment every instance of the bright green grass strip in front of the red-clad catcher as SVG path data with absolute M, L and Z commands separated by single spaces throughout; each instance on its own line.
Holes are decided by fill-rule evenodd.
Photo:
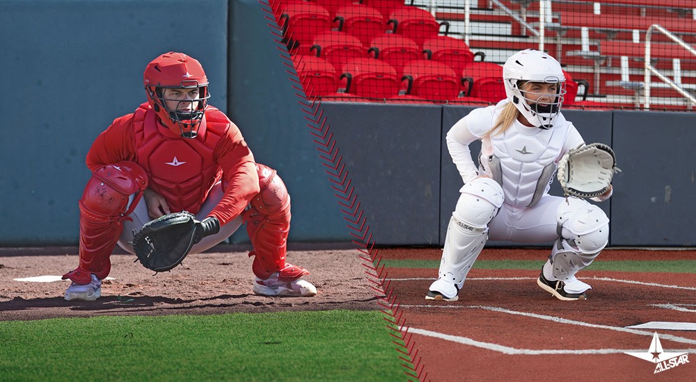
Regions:
M 0 379 L 405 380 L 389 333 L 348 310 L 0 322 Z

